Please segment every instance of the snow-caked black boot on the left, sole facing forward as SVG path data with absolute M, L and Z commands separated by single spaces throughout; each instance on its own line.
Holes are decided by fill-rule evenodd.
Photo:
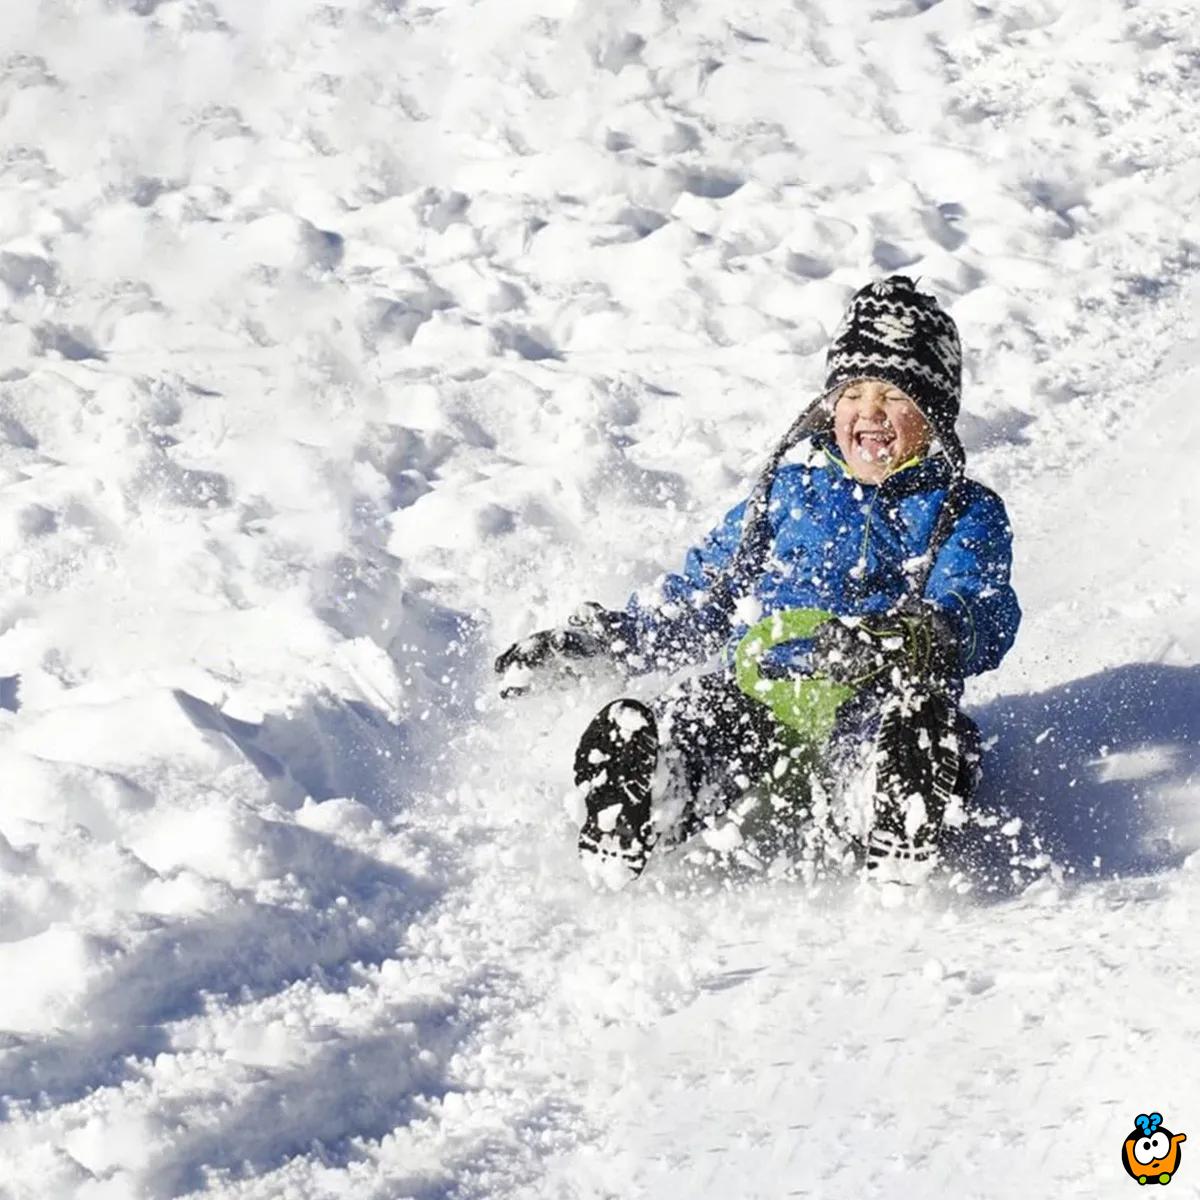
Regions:
M 658 768 L 654 714 L 636 700 L 606 704 L 575 751 L 575 784 L 587 817 L 580 860 L 596 887 L 612 890 L 637 878 L 656 841 L 650 799 Z

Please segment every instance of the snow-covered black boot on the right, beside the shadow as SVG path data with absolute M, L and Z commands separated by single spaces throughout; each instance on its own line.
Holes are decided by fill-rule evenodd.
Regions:
M 917 884 L 937 869 L 944 826 L 961 823 L 979 762 L 974 726 L 928 692 L 905 692 L 883 708 L 875 738 L 875 820 L 866 872 Z

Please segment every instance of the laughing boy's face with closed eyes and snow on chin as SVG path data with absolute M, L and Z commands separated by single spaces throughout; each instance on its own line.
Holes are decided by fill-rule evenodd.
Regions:
M 882 484 L 896 467 L 929 449 L 932 431 L 920 409 L 894 384 L 846 384 L 833 410 L 838 449 L 856 479 Z

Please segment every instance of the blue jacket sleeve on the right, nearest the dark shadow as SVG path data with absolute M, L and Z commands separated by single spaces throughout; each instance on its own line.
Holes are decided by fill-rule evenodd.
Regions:
M 979 487 L 942 544 L 925 599 L 947 617 L 965 674 L 991 671 L 1008 653 L 1021 623 L 1009 583 L 1013 530 L 1003 500 Z

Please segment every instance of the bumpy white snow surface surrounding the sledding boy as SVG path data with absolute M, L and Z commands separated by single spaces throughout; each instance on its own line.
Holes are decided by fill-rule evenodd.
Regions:
M 7 0 L 0 61 L 5 1200 L 1115 1196 L 1138 1112 L 1195 1140 L 1194 0 Z M 491 659 L 676 564 L 896 269 L 1015 527 L 992 846 L 1052 865 L 596 895 L 617 685 Z

